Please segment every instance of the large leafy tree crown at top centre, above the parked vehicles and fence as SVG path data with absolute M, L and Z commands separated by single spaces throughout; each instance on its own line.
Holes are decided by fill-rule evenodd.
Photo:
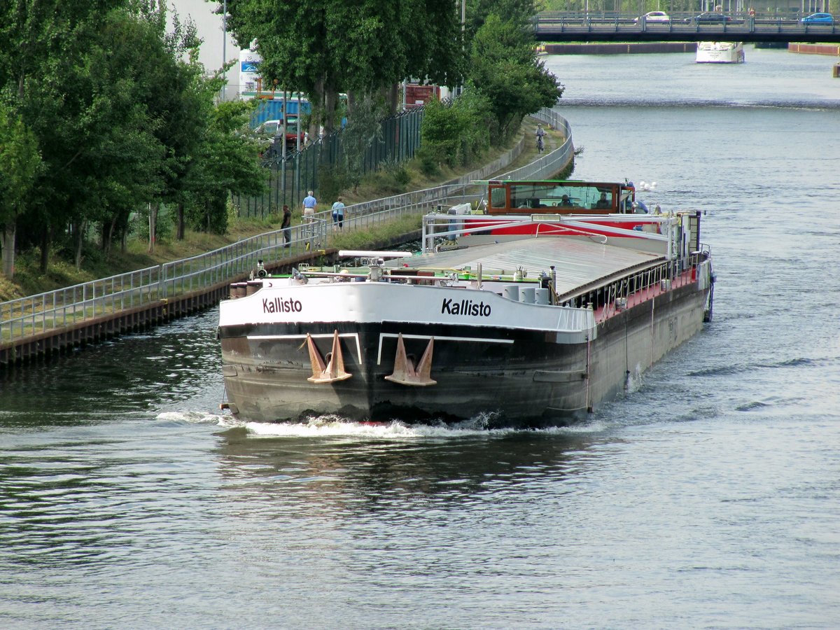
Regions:
M 388 92 L 407 76 L 454 85 L 463 50 L 451 0 L 228 0 L 228 29 L 255 42 L 264 81 L 306 92 L 312 123 L 333 129 L 339 92 Z M 314 132 L 314 129 L 312 129 Z

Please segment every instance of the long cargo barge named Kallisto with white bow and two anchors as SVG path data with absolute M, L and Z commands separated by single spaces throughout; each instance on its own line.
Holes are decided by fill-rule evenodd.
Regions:
M 632 184 L 489 181 L 423 218 L 423 250 L 255 270 L 220 305 L 226 400 L 243 420 L 490 426 L 580 421 L 711 319 L 699 211 Z

